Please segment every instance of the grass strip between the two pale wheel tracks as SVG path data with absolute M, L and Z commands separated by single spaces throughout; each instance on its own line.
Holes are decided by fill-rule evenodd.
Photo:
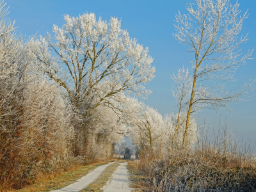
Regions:
M 120 164 L 120 161 L 109 165 L 100 175 L 99 177 L 92 182 L 89 186 L 79 192 L 93 192 L 93 191 L 102 191 L 102 187 L 106 185 L 109 178 L 115 172 L 117 166 Z

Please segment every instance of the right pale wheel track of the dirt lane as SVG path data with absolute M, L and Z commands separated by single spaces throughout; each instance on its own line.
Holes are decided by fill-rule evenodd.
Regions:
M 129 187 L 127 163 L 120 163 L 116 171 L 113 173 L 113 178 L 102 189 L 104 192 L 131 192 Z

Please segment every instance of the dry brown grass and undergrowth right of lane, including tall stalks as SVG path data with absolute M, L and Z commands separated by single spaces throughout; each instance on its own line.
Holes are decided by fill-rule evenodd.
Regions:
M 203 138 L 191 150 L 173 148 L 164 157 L 159 150 L 148 152 L 134 167 L 152 191 L 256 191 L 255 158 L 227 138 Z

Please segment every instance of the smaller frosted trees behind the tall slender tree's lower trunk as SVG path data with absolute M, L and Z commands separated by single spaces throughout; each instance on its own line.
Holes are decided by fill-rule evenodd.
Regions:
M 137 101 L 138 102 L 138 101 Z M 131 138 L 135 145 L 138 146 L 138 157 L 148 152 L 157 151 L 161 156 L 168 156 L 173 148 L 182 148 L 182 140 L 185 131 L 185 125 L 180 125 L 179 130 L 175 132 L 178 115 L 171 113 L 164 117 L 150 106 L 143 103 L 137 103 L 136 99 L 132 101 L 134 106 L 133 115 L 129 114 L 128 120 L 131 128 Z M 191 127 L 189 129 L 188 141 L 186 149 L 191 148 L 197 141 L 197 124 L 191 119 Z M 173 138 L 174 133 L 176 134 Z

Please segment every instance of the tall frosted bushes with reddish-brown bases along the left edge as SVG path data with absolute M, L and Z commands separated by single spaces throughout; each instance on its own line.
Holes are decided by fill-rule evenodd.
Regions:
M 40 172 L 66 166 L 74 125 L 70 102 L 61 96 L 60 86 L 33 65 L 33 40 L 24 42 L 15 35 L 3 6 L 1 1 L 0 182 L 6 189 L 20 188 Z M 54 163 L 56 158 L 62 161 Z

